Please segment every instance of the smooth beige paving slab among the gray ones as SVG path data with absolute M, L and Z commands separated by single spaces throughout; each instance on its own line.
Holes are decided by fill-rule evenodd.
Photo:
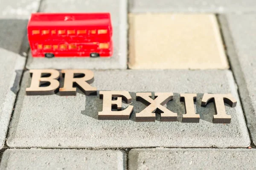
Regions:
M 227 69 L 214 14 L 129 14 L 129 68 Z

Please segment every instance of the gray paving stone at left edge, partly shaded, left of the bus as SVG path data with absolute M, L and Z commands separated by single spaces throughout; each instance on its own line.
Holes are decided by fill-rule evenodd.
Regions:
M 5 3 L 7 1 L 4 3 L 0 1 L 0 9 Z M 26 23 L 27 20 L 3 19 L 0 15 L 0 148 L 3 147 L 6 138 L 20 77 L 25 65 L 26 58 L 19 54 L 26 50 L 23 48 L 26 46 L 23 40 Z

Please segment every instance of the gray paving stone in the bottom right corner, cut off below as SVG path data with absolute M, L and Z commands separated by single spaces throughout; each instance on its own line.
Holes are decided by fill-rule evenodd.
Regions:
M 255 149 L 132 149 L 129 170 L 255 170 Z

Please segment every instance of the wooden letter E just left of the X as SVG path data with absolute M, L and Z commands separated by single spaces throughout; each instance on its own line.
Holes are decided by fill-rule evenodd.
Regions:
M 133 106 L 129 105 L 122 109 L 122 100 L 127 104 L 131 103 L 131 95 L 128 91 L 99 91 L 100 98 L 103 99 L 102 111 L 98 113 L 100 120 L 129 120 Z M 112 100 L 116 99 L 116 100 Z M 112 111 L 112 108 L 119 111 Z

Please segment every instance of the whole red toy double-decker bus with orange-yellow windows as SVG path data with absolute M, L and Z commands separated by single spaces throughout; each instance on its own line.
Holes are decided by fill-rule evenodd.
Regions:
M 35 13 L 27 26 L 32 57 L 111 57 L 109 13 Z

